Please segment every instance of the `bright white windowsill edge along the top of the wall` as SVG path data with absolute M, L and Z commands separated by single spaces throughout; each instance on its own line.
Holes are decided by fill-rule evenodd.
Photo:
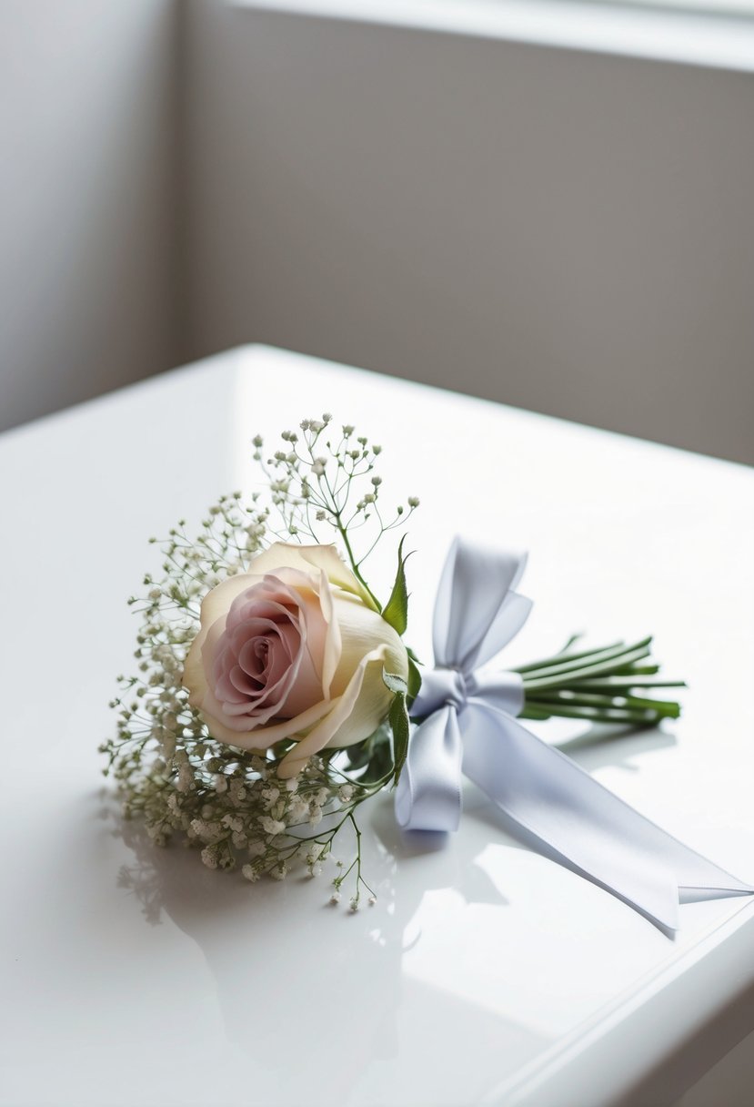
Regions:
M 232 0 L 235 7 L 754 71 L 754 21 L 568 0 Z

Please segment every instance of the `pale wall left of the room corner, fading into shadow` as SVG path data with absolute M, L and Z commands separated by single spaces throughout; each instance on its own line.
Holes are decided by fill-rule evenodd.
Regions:
M 180 360 L 178 0 L 0 3 L 0 428 Z

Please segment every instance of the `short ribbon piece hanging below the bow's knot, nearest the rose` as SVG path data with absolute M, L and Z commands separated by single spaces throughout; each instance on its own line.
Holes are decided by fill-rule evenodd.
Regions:
M 416 728 L 396 789 L 404 830 L 458 830 L 461 819 L 461 733 L 447 703 Z

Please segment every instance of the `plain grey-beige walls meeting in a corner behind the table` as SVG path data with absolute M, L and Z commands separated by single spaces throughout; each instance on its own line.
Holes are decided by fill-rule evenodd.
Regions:
M 0 428 L 258 340 L 752 463 L 753 121 L 733 71 L 4 0 Z

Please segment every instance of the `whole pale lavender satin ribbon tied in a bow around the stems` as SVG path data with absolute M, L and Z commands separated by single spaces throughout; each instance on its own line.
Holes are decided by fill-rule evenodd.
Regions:
M 434 606 L 436 668 L 422 676 L 396 792 L 406 830 L 457 830 L 461 774 L 533 844 L 664 930 L 678 929 L 679 892 L 744 896 L 754 888 L 684 846 L 521 725 L 517 673 L 482 674 L 523 627 L 532 601 L 514 589 L 526 556 L 457 538 Z

